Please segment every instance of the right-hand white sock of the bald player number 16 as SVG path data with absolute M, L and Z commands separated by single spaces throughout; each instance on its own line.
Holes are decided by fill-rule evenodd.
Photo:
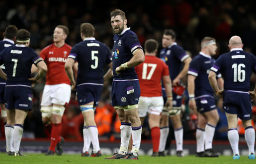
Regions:
M 245 128 L 244 138 L 248 145 L 249 154 L 254 154 L 255 131 L 252 126 Z

